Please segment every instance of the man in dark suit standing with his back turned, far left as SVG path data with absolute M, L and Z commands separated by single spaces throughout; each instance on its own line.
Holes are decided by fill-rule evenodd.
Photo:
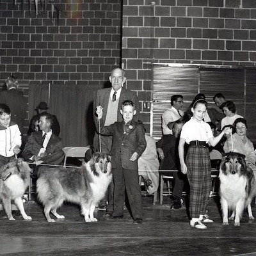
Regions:
M 7 91 L 0 93 L 0 103 L 6 104 L 12 112 L 12 121 L 15 122 L 20 129 L 21 134 L 24 134 L 24 126 L 27 111 L 27 102 L 22 92 L 18 92 L 18 78 L 9 76 L 6 80 Z

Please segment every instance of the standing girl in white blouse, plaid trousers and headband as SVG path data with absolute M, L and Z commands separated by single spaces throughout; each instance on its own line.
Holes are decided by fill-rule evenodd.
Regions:
M 193 117 L 183 125 L 179 141 L 179 157 L 181 172 L 188 175 L 190 185 L 189 211 L 191 227 L 206 229 L 204 223 L 213 221 L 205 214 L 211 192 L 211 160 L 207 143 L 214 147 L 224 134 L 230 133 L 225 128 L 214 138 L 211 127 L 203 121 L 207 109 L 204 99 L 195 99 L 191 111 Z M 189 144 L 186 163 L 184 161 L 184 145 Z

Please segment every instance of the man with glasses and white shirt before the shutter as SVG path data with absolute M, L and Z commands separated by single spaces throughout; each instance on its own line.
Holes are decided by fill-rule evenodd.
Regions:
M 184 112 L 180 110 L 182 108 L 183 96 L 180 94 L 172 95 L 170 109 L 167 109 L 162 115 L 162 131 L 163 134 L 173 134 L 172 128 L 175 121 L 184 116 Z

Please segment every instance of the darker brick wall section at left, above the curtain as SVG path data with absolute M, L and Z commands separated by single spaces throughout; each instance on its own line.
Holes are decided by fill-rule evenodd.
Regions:
M 29 12 L 29 1 L 1 0 L 0 83 L 12 73 L 24 86 L 104 84 L 120 65 L 120 1 L 54 0 L 51 22 L 51 4 L 44 13 L 38 1 L 35 17 L 34 1 Z

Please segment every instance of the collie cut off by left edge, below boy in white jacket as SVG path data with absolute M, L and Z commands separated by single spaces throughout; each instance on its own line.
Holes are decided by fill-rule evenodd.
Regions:
M 22 202 L 22 196 L 29 186 L 31 172 L 28 163 L 23 159 L 10 161 L 0 168 L 0 199 L 9 220 L 15 220 L 12 216 L 11 200 L 15 202 L 25 220 L 32 220 L 24 211 Z

